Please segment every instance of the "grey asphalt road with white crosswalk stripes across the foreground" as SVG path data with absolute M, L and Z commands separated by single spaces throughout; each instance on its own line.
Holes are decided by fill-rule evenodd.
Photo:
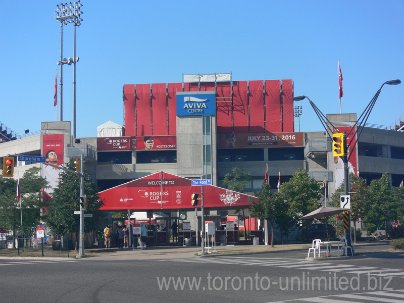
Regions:
M 153 250 L 151 250 L 153 251 Z M 0 260 L 0 302 L 404 302 L 404 252 Z

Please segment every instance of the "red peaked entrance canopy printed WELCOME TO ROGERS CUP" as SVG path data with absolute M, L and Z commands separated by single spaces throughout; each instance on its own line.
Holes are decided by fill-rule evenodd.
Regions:
M 201 193 L 202 186 L 192 186 L 192 180 L 165 172 L 157 172 L 116 187 L 99 192 L 104 201 L 100 208 L 115 210 L 194 210 L 192 193 Z M 243 209 L 251 205 L 248 197 L 254 196 L 229 189 L 204 185 L 204 206 L 206 209 Z M 199 195 L 197 207 L 201 205 Z

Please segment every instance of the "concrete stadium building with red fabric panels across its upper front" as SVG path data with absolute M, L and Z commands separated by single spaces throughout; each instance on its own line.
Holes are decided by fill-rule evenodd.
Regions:
M 200 213 L 191 206 L 192 188 L 184 191 L 186 195 L 180 194 L 182 203 L 177 205 L 179 193 L 175 187 L 150 188 L 149 192 L 160 192 L 161 203 L 147 205 L 138 202 L 143 197 L 136 186 L 144 185 L 129 184 L 160 172 L 156 178 L 163 178 L 165 173 L 188 180 L 186 184 L 192 179 L 211 179 L 210 186 L 221 188 L 225 174 L 237 167 L 251 174 L 245 189 L 251 195 L 261 190 L 268 164 L 273 190 L 277 190 L 279 180 L 286 182 L 297 169 L 305 169 L 318 182 L 325 182 L 325 203 L 341 182 L 327 132 L 294 131 L 290 79 L 233 81 L 230 74 L 197 74 L 184 75 L 181 83 L 125 84 L 123 105 L 124 125 L 108 121 L 97 127 L 97 137 L 72 137 L 70 122 L 42 122 L 38 134 L 3 141 L 0 157 L 45 156 L 53 149 L 60 165 L 84 154 L 86 172 L 106 198 L 106 211 L 151 211 L 169 218 L 166 227 L 171 224 L 169 220 L 179 218 L 180 212 L 187 212 L 192 230 L 200 226 Z M 401 131 L 365 126 L 358 139 L 354 135 L 356 127 L 352 128 L 356 114 L 328 114 L 327 119 L 338 132 L 346 131 L 349 140 L 358 141 L 350 149 L 351 171 L 366 178 L 368 184 L 387 172 L 393 186 L 400 184 L 404 179 Z M 16 164 L 20 173 L 32 166 L 45 166 L 23 161 Z M 235 208 L 248 204 L 246 197 L 240 199 L 244 199 L 240 205 L 223 204 L 221 190 L 217 197 L 210 197 L 213 204 L 208 212 L 208 220 L 216 223 L 217 229 L 226 218 L 234 216 Z M 108 200 L 112 191 L 125 192 L 127 196 L 121 197 L 125 203 Z M 166 208 L 163 201 L 173 206 Z M 257 220 L 251 219 L 248 224 L 249 229 L 258 229 Z

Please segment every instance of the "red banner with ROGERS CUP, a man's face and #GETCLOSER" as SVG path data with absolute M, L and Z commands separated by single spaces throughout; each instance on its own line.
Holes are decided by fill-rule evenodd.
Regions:
M 176 136 L 99 137 L 97 150 L 176 149 Z

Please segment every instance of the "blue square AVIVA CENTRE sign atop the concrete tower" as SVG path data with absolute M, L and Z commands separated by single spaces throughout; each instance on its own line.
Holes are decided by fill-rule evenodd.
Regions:
M 214 115 L 216 115 L 216 97 L 214 92 L 177 92 L 177 116 Z

